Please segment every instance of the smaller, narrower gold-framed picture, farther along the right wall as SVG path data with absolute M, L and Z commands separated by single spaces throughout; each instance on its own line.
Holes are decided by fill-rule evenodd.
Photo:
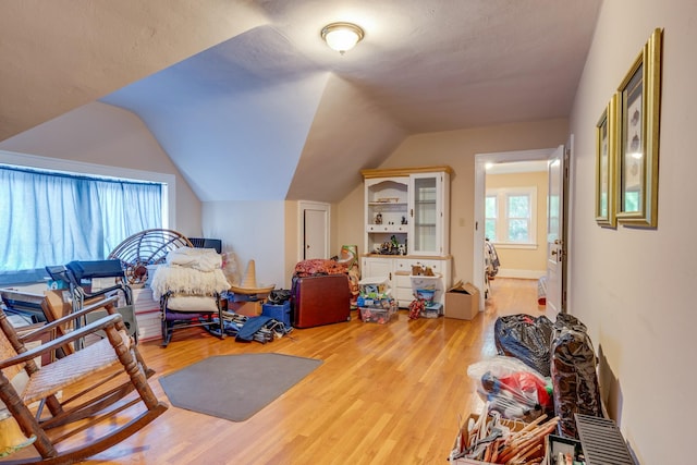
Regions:
M 617 159 L 617 100 L 610 99 L 596 124 L 596 222 L 601 227 L 615 228 Z

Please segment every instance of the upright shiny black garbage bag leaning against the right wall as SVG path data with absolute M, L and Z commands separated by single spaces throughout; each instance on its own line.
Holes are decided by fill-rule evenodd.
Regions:
M 559 314 L 551 345 L 551 377 L 559 432 L 578 439 L 574 414 L 602 417 L 597 358 L 586 326 L 576 317 Z

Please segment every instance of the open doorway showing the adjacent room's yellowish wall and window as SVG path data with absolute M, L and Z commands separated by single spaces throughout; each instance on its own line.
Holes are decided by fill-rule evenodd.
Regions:
M 548 274 L 548 259 L 551 256 L 548 245 L 548 187 L 553 184 L 549 178 L 549 164 L 560 150 L 563 151 L 561 148 L 549 148 L 478 154 L 475 157 L 473 276 L 475 285 L 485 290 L 481 293 L 482 306 L 488 294 L 485 271 L 487 235 L 493 240 L 501 258 L 501 276 L 539 279 Z M 487 185 L 488 173 L 490 185 Z M 521 210 L 535 216 L 536 220 L 509 211 L 515 205 L 522 205 Z M 491 213 L 492 209 L 498 213 Z M 502 252 L 508 258 L 501 257 Z M 557 253 L 553 257 L 557 257 Z

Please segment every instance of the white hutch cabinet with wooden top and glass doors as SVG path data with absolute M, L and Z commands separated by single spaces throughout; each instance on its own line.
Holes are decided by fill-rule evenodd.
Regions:
M 430 267 L 436 299 L 451 284 L 450 167 L 363 170 L 363 278 L 388 279 L 401 307 L 414 299 L 412 266 Z M 428 280 L 426 280 L 428 281 Z

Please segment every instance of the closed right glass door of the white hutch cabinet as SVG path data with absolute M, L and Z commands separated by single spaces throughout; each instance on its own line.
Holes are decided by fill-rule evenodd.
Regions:
M 441 178 L 437 174 L 411 176 L 412 244 L 409 254 L 441 254 L 440 228 L 442 228 Z

